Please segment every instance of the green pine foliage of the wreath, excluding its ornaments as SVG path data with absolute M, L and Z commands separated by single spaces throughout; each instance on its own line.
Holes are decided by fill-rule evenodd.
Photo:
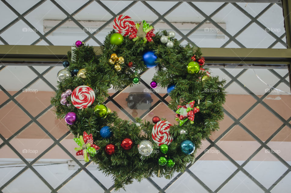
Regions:
M 75 137 L 78 134 L 82 135 L 84 131 L 88 134 L 92 133 L 94 144 L 98 145 L 100 149 L 94 157 L 90 158 L 98 164 L 99 170 L 112 176 L 115 181 L 115 190 L 118 190 L 131 184 L 134 179 L 141 181 L 144 178 L 157 176 L 159 171 L 160 177 L 168 179 L 173 177 L 174 172 L 184 171 L 186 165 L 194 159 L 201 140 L 209 137 L 212 131 L 219 129 L 219 121 L 223 119 L 224 115 L 222 105 L 225 103 L 226 93 L 223 89 L 225 81 L 220 81 L 217 76 L 210 76 L 205 82 L 202 82 L 199 78 L 205 76 L 206 72 L 187 73 L 187 65 L 191 61 L 191 56 L 196 55 L 196 58 L 199 58 L 202 55 L 199 48 L 189 44 L 182 46 L 177 39 L 171 39 L 174 47 L 167 48 L 160 42 L 161 36 L 167 35 L 166 31 L 158 32 L 155 37 L 152 37 L 153 42 L 132 41 L 126 36 L 120 46 L 115 46 L 110 44 L 110 36 L 113 33 L 114 31 L 106 36 L 101 56 L 96 56 L 93 47 L 85 45 L 73 51 L 76 61 L 72 62 L 72 53 L 68 52 L 70 66 L 67 69 L 72 71 L 85 68 L 86 78 L 73 76 L 59 82 L 58 90 L 52 97 L 51 103 L 54 105 L 56 116 L 59 119 L 64 118 L 68 112 L 77 114 L 77 122 L 68 125 Z M 154 151 L 149 156 L 141 156 L 138 152 L 137 145 L 140 141 L 152 141 L 151 133 L 154 126 L 152 122 L 142 123 L 142 120 L 136 118 L 136 122 L 141 123 L 141 128 L 139 128 L 135 123 L 120 119 L 116 112 L 109 113 L 106 118 L 100 118 L 94 114 L 95 105 L 105 102 L 108 96 L 107 90 L 111 84 L 117 90 L 127 85 L 132 86 L 133 77 L 147 69 L 142 62 L 142 53 L 147 50 L 154 51 L 158 57 L 156 74 L 152 80 L 163 88 L 171 83 L 176 85 L 170 93 L 172 100 L 169 108 L 176 111 L 177 105 L 185 105 L 192 100 L 195 100 L 195 107 L 197 105 L 200 107 L 200 112 L 195 114 L 194 124 L 190 124 L 188 120 L 182 126 L 176 124 L 171 127 L 170 134 L 174 140 L 169 145 L 169 152 L 166 155 L 175 162 L 175 166 L 172 168 L 158 164 L 159 157 L 164 154 L 159 151 L 159 147 L 155 143 L 153 143 Z M 120 72 L 116 72 L 114 65 L 108 62 L 112 53 L 125 59 L 125 63 L 121 64 Z M 126 64 L 129 62 L 133 63 L 132 68 L 127 67 Z M 69 107 L 61 105 L 61 94 L 67 89 L 74 90 L 80 85 L 90 86 L 95 91 L 94 103 L 83 110 L 79 110 L 73 105 Z M 71 103 L 70 97 L 67 98 L 67 101 Z M 199 104 L 198 101 L 200 101 Z M 113 132 L 113 136 L 109 139 L 103 139 L 99 134 L 100 129 L 104 126 L 109 126 Z M 187 133 L 181 135 L 181 129 L 186 130 Z M 132 139 L 134 146 L 131 150 L 122 149 L 121 142 L 125 138 Z M 196 150 L 191 155 L 185 155 L 180 149 L 180 143 L 186 139 L 193 141 L 196 146 Z M 115 145 L 115 153 L 112 155 L 107 155 L 104 151 L 104 147 L 109 143 Z

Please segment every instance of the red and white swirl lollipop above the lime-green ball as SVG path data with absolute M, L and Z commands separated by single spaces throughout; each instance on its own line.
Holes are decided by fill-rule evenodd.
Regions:
M 117 15 L 113 21 L 113 28 L 116 33 L 120 33 L 122 36 L 129 34 L 130 27 L 135 26 L 135 23 L 128 15 Z

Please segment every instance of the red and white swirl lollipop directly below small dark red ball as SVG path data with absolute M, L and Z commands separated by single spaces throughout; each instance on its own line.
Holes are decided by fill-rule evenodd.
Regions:
M 169 133 L 170 126 L 171 124 L 168 121 L 159 121 L 152 128 L 152 140 L 159 146 L 162 144 L 169 145 L 173 141 Z

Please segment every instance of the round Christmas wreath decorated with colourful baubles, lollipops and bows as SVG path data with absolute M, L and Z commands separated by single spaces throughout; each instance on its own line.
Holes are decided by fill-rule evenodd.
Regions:
M 180 45 L 174 32 L 155 33 L 145 21 L 135 23 L 126 15 L 117 16 L 113 28 L 101 56 L 92 46 L 75 43 L 58 73 L 51 103 L 76 137 L 76 154 L 112 175 L 118 190 L 133 179 L 171 178 L 184 171 L 201 140 L 219 129 L 226 94 L 225 81 L 203 69 L 201 50 Z M 159 117 L 153 123 L 139 118 L 130 123 L 103 104 L 108 89 L 138 84 L 141 72 L 151 67 L 156 73 L 150 86 L 167 88 L 172 99 L 168 107 L 178 124 Z

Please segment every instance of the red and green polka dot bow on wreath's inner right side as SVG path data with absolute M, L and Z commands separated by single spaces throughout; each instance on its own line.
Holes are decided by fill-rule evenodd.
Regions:
M 199 107 L 194 107 L 194 104 L 195 101 L 192 100 L 184 106 L 178 105 L 178 109 L 176 110 L 176 120 L 179 120 L 180 126 L 182 126 L 188 119 L 190 120 L 191 124 L 194 123 L 195 113 L 199 112 Z

